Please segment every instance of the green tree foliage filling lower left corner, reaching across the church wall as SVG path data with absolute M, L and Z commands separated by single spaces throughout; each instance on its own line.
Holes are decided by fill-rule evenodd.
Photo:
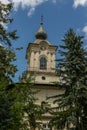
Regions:
M 42 110 L 35 104 L 37 92 L 31 89 L 31 81 L 10 85 L 7 85 L 8 80 L 3 81 L 0 85 L 0 129 L 33 130 L 39 127 L 36 120 L 41 120 Z

